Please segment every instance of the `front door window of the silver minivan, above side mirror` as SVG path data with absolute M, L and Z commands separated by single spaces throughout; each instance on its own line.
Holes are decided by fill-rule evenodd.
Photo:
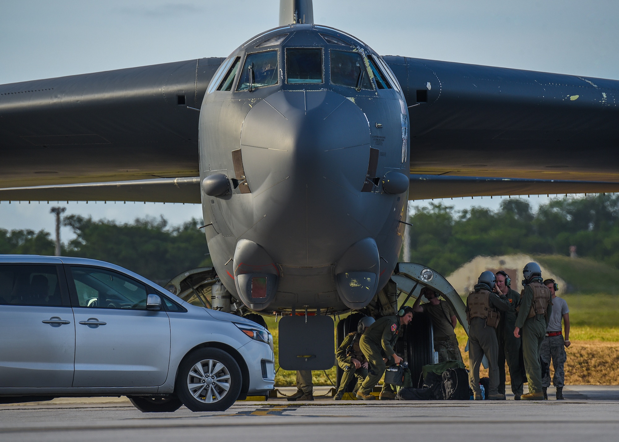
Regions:
M 144 284 L 98 267 L 71 266 L 80 307 L 146 310 Z

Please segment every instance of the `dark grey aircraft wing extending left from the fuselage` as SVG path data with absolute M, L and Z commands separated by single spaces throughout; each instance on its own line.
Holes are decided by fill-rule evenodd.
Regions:
M 14 199 L 15 188 L 24 188 L 20 199 L 49 199 L 52 193 L 81 201 L 89 188 L 84 183 L 97 183 L 93 196 L 196 201 L 197 195 L 199 201 L 197 187 L 193 196 L 170 196 L 179 184 L 161 178 L 199 175 L 197 109 L 222 61 L 202 58 L 0 85 L 0 199 Z M 144 183 L 149 178 L 155 181 Z M 110 181 L 141 182 L 104 191 L 101 183 Z M 76 183 L 82 184 L 81 194 L 77 186 L 50 188 Z M 170 191 L 162 194 L 162 186 Z

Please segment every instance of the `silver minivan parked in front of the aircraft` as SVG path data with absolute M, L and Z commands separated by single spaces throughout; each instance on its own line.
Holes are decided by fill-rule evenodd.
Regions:
M 0 403 L 128 396 L 225 410 L 273 389 L 271 333 L 108 262 L 0 255 Z

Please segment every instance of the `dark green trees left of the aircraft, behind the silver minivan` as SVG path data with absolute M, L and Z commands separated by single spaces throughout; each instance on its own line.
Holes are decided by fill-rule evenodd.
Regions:
M 113 262 L 154 280 L 167 282 L 193 267 L 210 266 L 209 249 L 199 220 L 168 226 L 167 220 L 136 219 L 133 223 L 67 215 L 63 225 L 76 238 L 63 244 L 63 256 Z M 0 253 L 54 254 L 54 240 L 45 230 L 0 228 Z

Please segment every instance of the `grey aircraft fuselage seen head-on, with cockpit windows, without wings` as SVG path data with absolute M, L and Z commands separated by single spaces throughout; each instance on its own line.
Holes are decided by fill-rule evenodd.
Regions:
M 205 230 L 249 308 L 362 308 L 391 277 L 409 173 L 400 91 L 368 46 L 316 25 L 254 37 L 215 73 L 199 122 Z

